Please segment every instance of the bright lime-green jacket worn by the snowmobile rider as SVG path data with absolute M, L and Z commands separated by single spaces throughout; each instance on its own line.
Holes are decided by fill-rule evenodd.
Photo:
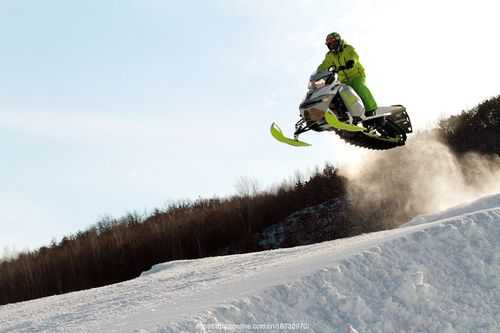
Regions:
M 356 50 L 354 50 L 354 47 L 351 45 L 345 43 L 338 53 L 328 51 L 325 55 L 325 60 L 318 66 L 318 71 L 327 71 L 332 66 L 336 68 L 345 66 L 348 60 L 354 60 L 354 67 L 339 72 L 340 82 L 347 83 L 355 78 L 365 78 L 365 69 L 359 62 L 359 56 Z

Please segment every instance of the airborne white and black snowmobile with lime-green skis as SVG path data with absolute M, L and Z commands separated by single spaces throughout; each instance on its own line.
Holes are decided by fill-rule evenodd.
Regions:
M 412 133 L 411 121 L 402 105 L 379 107 L 371 116 L 365 115 L 361 98 L 353 88 L 337 80 L 337 71 L 317 72 L 310 78 L 306 97 L 299 106 L 300 119 L 295 124 L 293 139 L 286 137 L 276 123 L 272 136 L 283 143 L 310 146 L 300 141 L 307 131 L 333 131 L 344 141 L 368 149 L 390 149 L 405 144 Z

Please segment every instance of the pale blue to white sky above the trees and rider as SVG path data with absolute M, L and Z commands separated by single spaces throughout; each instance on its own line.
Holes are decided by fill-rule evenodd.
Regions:
M 0 251 L 169 202 L 362 163 L 291 134 L 338 31 L 415 128 L 500 94 L 497 1 L 0 1 Z

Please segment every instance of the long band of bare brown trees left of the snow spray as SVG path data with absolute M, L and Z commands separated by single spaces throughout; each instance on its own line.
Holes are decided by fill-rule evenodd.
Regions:
M 259 250 L 256 235 L 291 213 L 345 194 L 332 165 L 272 191 L 171 204 L 150 216 L 105 218 L 0 263 L 0 304 L 104 286 L 152 265 Z

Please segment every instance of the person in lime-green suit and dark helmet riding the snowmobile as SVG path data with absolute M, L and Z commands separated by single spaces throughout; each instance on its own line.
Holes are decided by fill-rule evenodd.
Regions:
M 339 81 L 351 86 L 363 101 L 365 115 L 374 115 L 377 103 L 365 85 L 365 70 L 359 62 L 358 54 L 354 48 L 345 43 L 336 32 L 326 36 L 325 44 L 329 51 L 325 55 L 325 60 L 318 66 L 318 72 L 335 67 L 338 71 Z

